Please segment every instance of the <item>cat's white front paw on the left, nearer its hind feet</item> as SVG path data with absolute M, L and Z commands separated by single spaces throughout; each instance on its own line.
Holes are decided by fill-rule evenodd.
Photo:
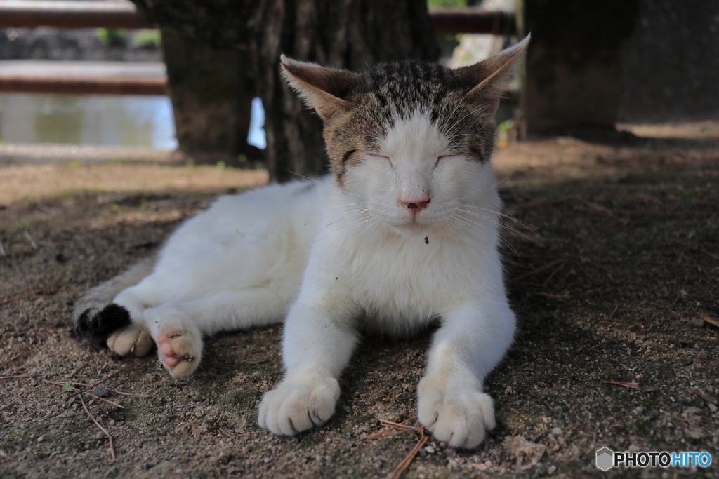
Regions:
M 275 434 L 293 436 L 326 423 L 334 413 L 337 399 L 339 382 L 334 377 L 290 374 L 262 398 L 257 422 Z

